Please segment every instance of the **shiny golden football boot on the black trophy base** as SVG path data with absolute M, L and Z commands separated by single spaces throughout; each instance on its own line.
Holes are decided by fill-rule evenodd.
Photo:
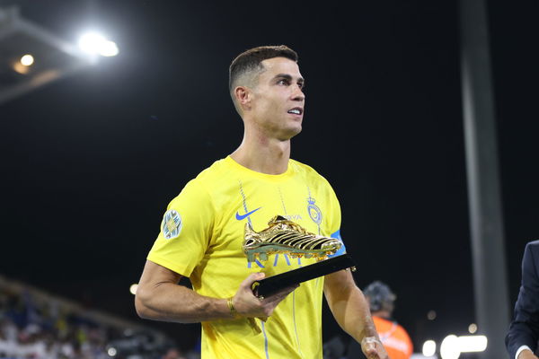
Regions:
M 340 250 L 339 240 L 307 232 L 282 215 L 273 217 L 268 225 L 265 230 L 254 232 L 251 224 L 245 223 L 243 252 L 249 262 L 258 257 L 267 260 L 269 255 L 276 253 L 322 260 Z

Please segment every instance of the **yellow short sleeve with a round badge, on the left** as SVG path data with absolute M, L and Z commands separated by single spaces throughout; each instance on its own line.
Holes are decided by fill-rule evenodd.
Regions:
M 214 217 L 208 191 L 199 180 L 191 180 L 167 206 L 147 259 L 181 276 L 190 276 L 208 250 Z

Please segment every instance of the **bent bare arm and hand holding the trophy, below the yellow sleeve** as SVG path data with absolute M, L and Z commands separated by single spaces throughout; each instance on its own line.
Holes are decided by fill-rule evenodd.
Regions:
M 286 288 L 261 301 L 253 295 L 251 285 L 263 277 L 263 273 L 253 273 L 242 282 L 232 299 L 237 314 L 247 318 L 269 317 L 277 304 L 296 289 Z M 195 293 L 178 285 L 180 279 L 181 275 L 147 260 L 135 295 L 138 316 L 180 323 L 234 318 L 227 299 Z

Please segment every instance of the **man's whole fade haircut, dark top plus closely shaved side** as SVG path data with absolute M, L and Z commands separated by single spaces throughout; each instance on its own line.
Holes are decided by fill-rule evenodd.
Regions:
M 235 101 L 234 88 L 240 85 L 254 86 L 258 75 L 264 71 L 264 66 L 261 62 L 273 57 L 285 57 L 294 62 L 298 60 L 296 51 L 286 45 L 259 46 L 258 48 L 250 48 L 244 51 L 234 58 L 234 61 L 230 64 L 228 69 L 228 91 L 238 113 L 241 114 L 240 107 Z

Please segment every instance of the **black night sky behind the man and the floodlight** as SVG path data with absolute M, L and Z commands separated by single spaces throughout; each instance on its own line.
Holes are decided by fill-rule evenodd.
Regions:
M 66 40 L 102 30 L 120 54 L 0 106 L 1 274 L 138 320 L 128 287 L 165 206 L 241 141 L 230 61 L 287 44 L 307 82 L 292 157 L 340 198 L 358 285 L 393 288 L 417 350 L 474 321 L 455 1 L 3 4 Z M 512 305 L 539 238 L 539 9 L 489 4 Z M 159 326 L 188 344 L 191 327 Z

